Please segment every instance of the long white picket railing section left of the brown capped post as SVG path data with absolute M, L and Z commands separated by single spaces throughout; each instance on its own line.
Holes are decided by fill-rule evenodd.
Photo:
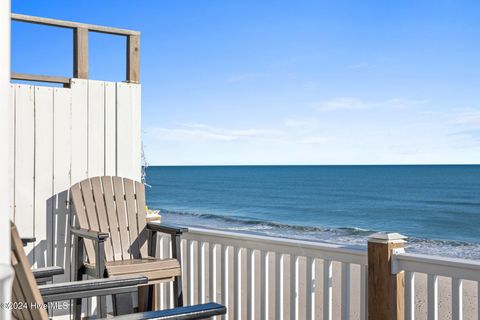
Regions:
M 181 249 L 186 305 L 223 303 L 227 319 L 366 318 L 364 250 L 200 228 Z M 158 256 L 170 250 L 160 237 Z M 170 307 L 171 284 L 160 290 L 160 307 Z

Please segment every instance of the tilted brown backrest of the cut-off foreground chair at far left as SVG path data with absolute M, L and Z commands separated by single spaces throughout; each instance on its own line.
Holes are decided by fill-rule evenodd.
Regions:
M 43 299 L 38 290 L 23 244 L 18 235 L 17 228 L 12 223 L 11 232 L 11 257 L 12 267 L 15 271 L 13 280 L 13 302 L 26 303 L 28 308 L 14 310 L 13 315 L 19 319 L 48 320 L 47 310 L 43 306 Z M 32 306 L 38 306 L 37 308 Z M 15 309 L 15 308 L 14 308 Z

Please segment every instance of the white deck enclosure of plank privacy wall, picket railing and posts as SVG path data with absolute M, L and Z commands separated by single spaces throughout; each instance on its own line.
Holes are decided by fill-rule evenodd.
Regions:
M 59 83 L 11 85 L 10 217 L 36 267 L 57 265 L 71 278 L 75 223 L 69 187 L 97 175 L 141 177 L 140 33 L 13 15 L 13 20 L 73 30 L 74 78 L 12 73 L 12 79 Z M 88 78 L 88 33 L 126 37 L 126 82 Z M 383 238 L 382 238 L 383 237 Z M 408 241 L 408 240 L 407 240 Z M 216 301 L 227 319 L 480 319 L 480 263 L 411 254 L 399 235 L 376 235 L 367 249 L 313 241 L 190 228 L 181 242 L 185 303 Z M 157 239 L 157 256 L 171 251 Z M 440 290 L 440 288 L 447 288 Z M 173 306 L 170 284 L 159 305 Z M 95 314 L 95 301 L 84 315 Z M 70 309 L 55 318 L 70 318 Z

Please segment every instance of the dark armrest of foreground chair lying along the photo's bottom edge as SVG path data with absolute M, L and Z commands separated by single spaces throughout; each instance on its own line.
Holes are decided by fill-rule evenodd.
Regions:
M 194 320 L 209 319 L 213 316 L 219 316 L 227 313 L 227 308 L 218 303 L 204 303 L 188 307 L 178 307 L 160 311 L 147 311 L 134 314 L 116 316 L 115 320 Z

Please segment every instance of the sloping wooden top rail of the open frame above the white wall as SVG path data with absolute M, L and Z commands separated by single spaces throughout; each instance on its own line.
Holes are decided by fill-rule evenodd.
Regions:
M 18 14 L 18 13 L 12 13 L 11 17 L 12 17 L 12 20 L 14 21 L 42 24 L 46 26 L 53 26 L 53 27 L 59 27 L 59 28 L 68 28 L 68 29 L 80 28 L 80 29 L 87 29 L 88 31 L 92 31 L 92 32 L 114 34 L 119 36 L 140 35 L 140 32 L 135 30 L 120 29 L 120 28 L 99 26 L 94 24 L 87 24 L 87 23 L 80 23 L 80 22 L 73 22 L 73 21 L 29 16 L 29 15 Z

